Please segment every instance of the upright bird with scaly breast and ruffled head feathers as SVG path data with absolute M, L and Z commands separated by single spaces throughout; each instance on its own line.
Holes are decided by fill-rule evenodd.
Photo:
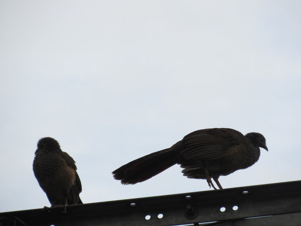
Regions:
M 82 184 L 76 172 L 75 161 L 51 137 L 37 143 L 33 160 L 33 173 L 46 193 L 51 207 L 82 204 L 79 193 Z

